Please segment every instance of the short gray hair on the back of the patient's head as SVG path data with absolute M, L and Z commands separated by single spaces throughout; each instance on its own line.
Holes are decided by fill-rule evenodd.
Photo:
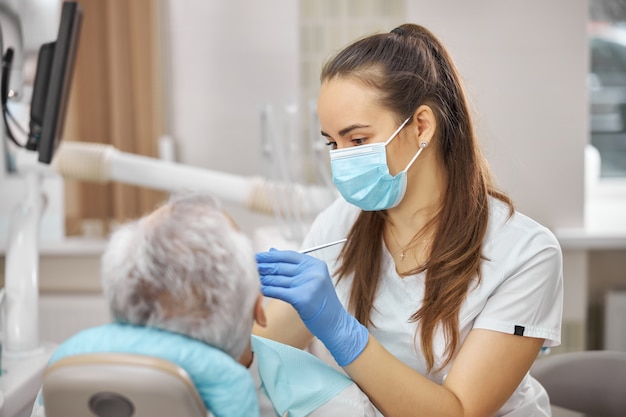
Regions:
M 209 196 L 174 196 L 122 225 L 102 256 L 102 284 L 116 321 L 182 333 L 235 359 L 250 341 L 254 251 Z

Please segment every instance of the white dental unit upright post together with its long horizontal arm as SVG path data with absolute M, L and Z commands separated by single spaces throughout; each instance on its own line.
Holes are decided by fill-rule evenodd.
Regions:
M 52 167 L 37 163 L 34 153 L 20 151 L 16 165 L 24 172 L 27 195 L 12 218 L 6 264 L 6 347 L 14 352 L 36 351 L 40 346 L 38 230 L 45 205 L 41 181 L 51 170 L 83 181 L 117 181 L 166 192 L 206 191 L 224 202 L 264 214 L 272 214 L 272 201 L 287 194 L 294 204 L 283 210 L 305 215 L 319 213 L 336 198 L 334 191 L 326 186 L 285 185 L 261 177 L 244 177 L 125 153 L 99 143 L 62 142 Z

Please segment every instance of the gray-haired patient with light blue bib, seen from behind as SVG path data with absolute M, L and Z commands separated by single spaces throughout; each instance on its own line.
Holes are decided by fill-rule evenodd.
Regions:
M 236 359 L 249 371 L 244 374 L 254 383 L 261 416 L 375 415 L 344 374 L 299 349 L 251 336 L 253 322 L 265 325 L 254 251 L 211 197 L 173 196 L 153 213 L 122 225 L 110 238 L 101 272 L 118 324 L 77 334 L 53 360 L 123 339 L 103 337 L 111 326 L 113 331 L 141 326 L 141 331 L 189 336 Z M 33 415 L 43 415 L 39 401 Z

